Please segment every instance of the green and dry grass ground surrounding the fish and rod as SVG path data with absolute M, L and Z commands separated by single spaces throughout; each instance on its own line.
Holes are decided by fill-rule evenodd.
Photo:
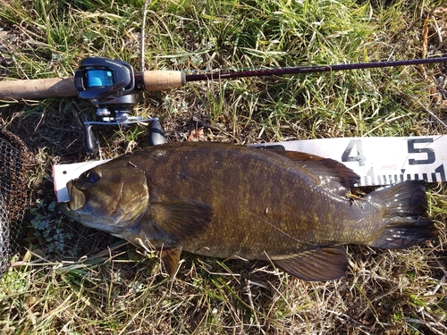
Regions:
M 145 64 L 207 71 L 420 58 L 447 54 L 443 0 L 152 1 Z M 0 76 L 67 76 L 84 57 L 139 69 L 144 1 L 3 0 Z M 438 28 L 436 28 L 436 25 Z M 444 24 L 444 26 L 443 26 Z M 439 35 L 443 40 L 441 41 Z M 445 64 L 190 83 L 145 93 L 169 141 L 243 144 L 445 133 L 435 82 Z M 184 255 L 174 281 L 156 254 L 69 222 L 55 207 L 51 166 L 83 151 L 94 108 L 76 98 L 2 102 L 0 121 L 36 158 L 20 255 L 0 280 L 2 334 L 443 334 L 447 332 L 444 184 L 429 186 L 438 239 L 408 250 L 347 247 L 350 272 L 305 282 L 262 262 Z M 196 131 L 196 132 L 195 132 Z M 144 127 L 97 130 L 102 155 L 148 145 Z M 48 233 L 51 232 L 51 233 Z

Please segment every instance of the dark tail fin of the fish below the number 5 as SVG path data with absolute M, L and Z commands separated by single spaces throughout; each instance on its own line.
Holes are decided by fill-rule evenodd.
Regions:
M 433 239 L 434 222 L 426 214 L 426 183 L 408 180 L 369 193 L 371 202 L 384 208 L 384 229 L 371 247 L 403 249 Z

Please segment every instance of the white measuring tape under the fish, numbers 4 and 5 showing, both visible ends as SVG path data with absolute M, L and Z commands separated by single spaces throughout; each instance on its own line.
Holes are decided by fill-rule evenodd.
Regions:
M 339 161 L 360 177 L 357 186 L 390 185 L 403 180 L 447 181 L 447 136 L 402 138 L 320 138 L 255 145 L 319 155 Z M 53 166 L 58 202 L 69 201 L 66 183 L 106 161 Z

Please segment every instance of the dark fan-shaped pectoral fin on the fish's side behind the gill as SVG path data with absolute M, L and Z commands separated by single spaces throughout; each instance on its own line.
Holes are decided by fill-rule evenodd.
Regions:
M 150 204 L 149 220 L 164 237 L 181 244 L 207 229 L 213 219 L 212 206 L 191 199 Z

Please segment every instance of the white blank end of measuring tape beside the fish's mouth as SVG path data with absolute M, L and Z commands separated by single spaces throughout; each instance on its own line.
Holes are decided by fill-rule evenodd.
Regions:
M 67 182 L 80 176 L 82 172 L 94 168 L 97 165 L 110 161 L 89 161 L 83 163 L 53 165 L 53 182 L 55 184 L 55 196 L 58 203 L 70 201 L 67 190 Z

